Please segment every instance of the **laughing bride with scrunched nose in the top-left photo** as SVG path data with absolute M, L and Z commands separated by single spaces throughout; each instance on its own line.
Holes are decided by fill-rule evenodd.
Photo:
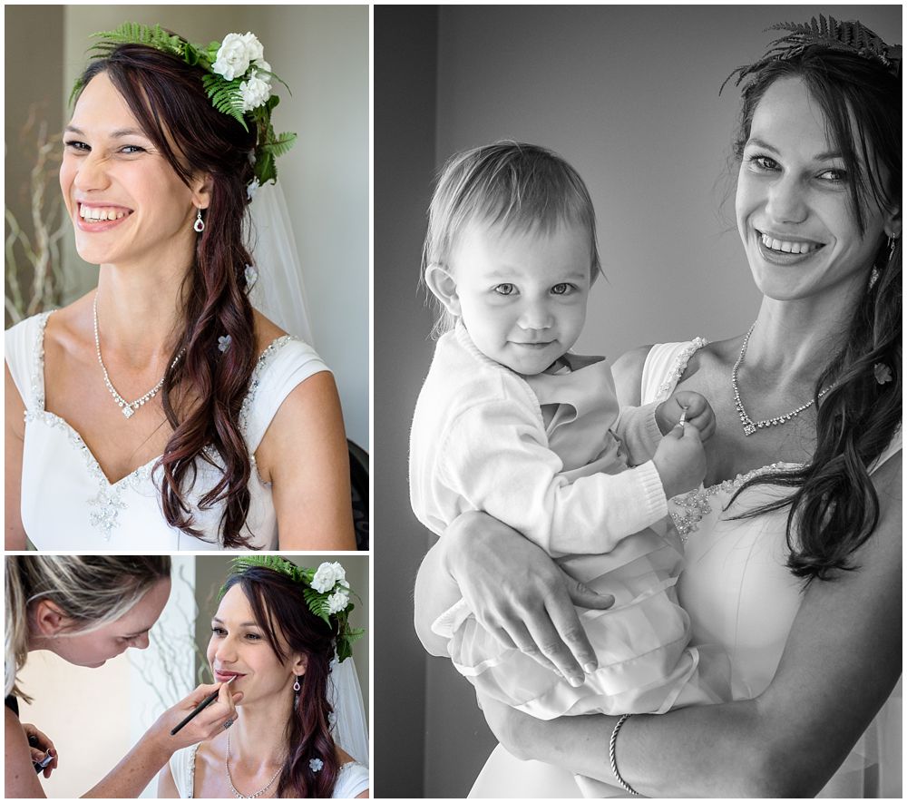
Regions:
M 334 379 L 249 303 L 277 76 L 253 34 L 100 35 L 60 170 L 98 287 L 6 333 L 5 548 L 355 549 Z

